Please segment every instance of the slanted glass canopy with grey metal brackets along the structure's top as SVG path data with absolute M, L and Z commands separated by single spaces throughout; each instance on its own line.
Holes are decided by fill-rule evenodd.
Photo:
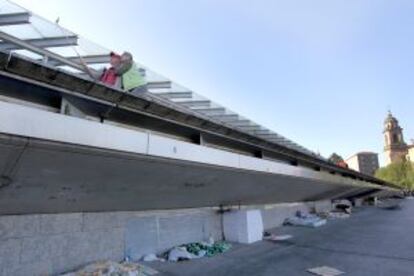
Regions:
M 68 47 L 68 46 L 78 45 L 79 38 L 76 34 L 68 30 L 64 30 L 60 26 L 56 26 L 57 25 L 56 23 L 42 19 L 38 17 L 37 15 L 34 15 L 34 14 L 32 15 L 31 12 L 23 8 L 18 9 L 18 11 L 19 12 L 0 15 L 0 26 L 2 24 L 5 26 L 13 25 L 13 24 L 31 24 L 33 26 L 31 25 L 29 26 L 34 28 L 37 31 L 37 33 L 39 33 L 42 36 L 42 38 L 23 40 L 23 39 L 17 38 L 14 33 L 7 33 L 7 31 L 0 32 L 0 39 L 2 40 L 0 42 L 0 50 L 2 51 L 13 51 L 13 50 L 19 50 L 19 49 L 27 50 L 28 52 L 32 52 L 32 53 L 35 53 L 35 54 L 38 54 L 44 57 L 41 60 L 38 59 L 38 57 L 36 57 L 38 62 L 43 62 L 52 67 L 60 67 L 62 70 L 72 71 L 72 73 L 73 73 L 73 70 L 69 70 L 69 69 L 73 68 L 73 69 L 76 69 L 75 70 L 76 75 L 83 75 L 85 68 L 83 65 L 80 64 L 79 57 L 77 56 L 64 57 L 62 55 L 56 54 L 52 51 L 45 49 L 49 47 Z M 30 19 L 31 17 L 32 19 Z M 37 30 L 36 28 L 37 26 L 36 24 L 38 21 L 40 22 L 40 20 L 43 20 L 42 24 L 49 24 L 48 27 L 45 28 L 45 32 L 41 32 L 42 28 L 40 28 L 40 30 Z M 43 26 L 43 25 L 40 25 L 40 26 Z M 48 28 L 50 28 L 51 31 L 49 31 Z M 62 29 L 62 32 L 59 32 L 59 29 Z M 62 33 L 63 36 L 61 36 L 59 33 Z M 65 36 L 65 33 L 67 33 L 67 36 Z M 48 36 L 44 34 L 48 34 Z M 83 43 L 85 43 L 84 39 L 82 39 L 80 44 L 83 44 Z M 79 48 L 81 48 L 80 44 L 78 45 Z M 94 44 L 92 43 L 91 45 L 94 45 Z M 85 54 L 83 54 L 82 59 L 83 61 L 85 61 L 86 64 L 107 64 L 109 63 L 109 55 L 105 52 L 106 49 L 96 44 L 95 44 L 95 47 L 91 47 L 91 49 L 96 49 L 96 51 L 90 51 L 90 52 L 86 51 Z M 60 51 L 59 49 L 58 52 L 64 52 L 65 50 L 66 49 L 64 48 L 62 51 Z M 26 51 L 22 51 L 21 53 L 23 53 L 23 55 L 26 55 L 25 52 Z M 108 50 L 108 53 L 109 53 L 109 50 Z M 31 54 L 29 54 L 29 58 L 32 58 Z M 139 66 L 139 67 L 141 68 L 143 66 Z M 93 71 L 94 69 L 90 68 L 90 70 Z M 206 99 L 193 91 L 190 91 L 190 90 L 186 91 L 186 89 L 181 87 L 180 85 L 172 83 L 167 78 L 164 78 L 158 75 L 157 73 L 150 71 L 149 69 L 143 69 L 142 71 L 145 71 L 145 74 L 147 78 L 149 79 L 148 90 L 150 94 L 156 97 L 159 96 L 160 98 L 165 99 L 171 105 L 180 106 L 183 110 L 187 110 L 188 113 L 190 114 L 191 112 L 198 113 L 199 116 L 203 116 L 203 118 L 205 117 L 211 118 L 211 120 L 216 121 L 216 123 L 221 123 L 221 124 L 224 123 L 228 126 L 238 128 L 242 130 L 243 132 L 248 132 L 249 134 L 252 134 L 256 137 L 264 138 L 266 140 L 277 139 L 277 141 L 279 142 L 281 141 L 281 139 L 283 142 L 289 141 L 286 138 L 281 138 L 281 136 L 269 135 L 272 133 L 270 130 L 250 120 L 245 119 L 239 114 L 213 101 L 210 101 L 209 99 Z M 89 78 L 88 76 L 85 76 L 85 77 Z M 166 90 L 166 89 L 169 89 L 169 90 Z M 304 149 L 303 147 L 293 143 L 292 141 L 289 141 L 289 145 L 294 147 L 294 149 L 296 150 L 300 150 L 306 153 L 310 152 L 309 150 Z

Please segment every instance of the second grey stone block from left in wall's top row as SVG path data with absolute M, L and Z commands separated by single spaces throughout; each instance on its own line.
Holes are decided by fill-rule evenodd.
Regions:
M 52 214 L 40 215 L 40 234 L 62 234 L 80 232 L 82 228 L 82 214 Z

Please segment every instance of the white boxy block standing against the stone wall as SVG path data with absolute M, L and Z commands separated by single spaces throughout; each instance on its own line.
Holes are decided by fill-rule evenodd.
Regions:
M 262 240 L 263 220 L 260 210 L 239 210 L 225 213 L 223 217 L 226 240 L 253 243 Z

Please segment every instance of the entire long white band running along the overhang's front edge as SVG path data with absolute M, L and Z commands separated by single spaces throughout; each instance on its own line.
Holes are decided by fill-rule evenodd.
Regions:
M 338 175 L 3 101 L 0 101 L 0 133 L 358 185 L 357 181 Z

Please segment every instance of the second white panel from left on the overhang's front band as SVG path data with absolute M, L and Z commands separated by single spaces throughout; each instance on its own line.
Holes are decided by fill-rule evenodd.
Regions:
M 149 155 L 239 168 L 239 155 L 175 139 L 149 135 Z

